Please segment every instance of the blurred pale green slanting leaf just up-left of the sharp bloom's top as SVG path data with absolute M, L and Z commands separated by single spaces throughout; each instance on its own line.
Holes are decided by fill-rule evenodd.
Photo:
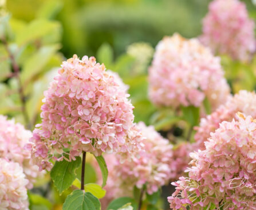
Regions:
M 36 54 L 27 59 L 21 71 L 21 82 L 29 82 L 33 76 L 44 70 L 44 67 L 50 60 L 51 56 L 56 53 L 59 48 L 59 45 L 43 46 Z

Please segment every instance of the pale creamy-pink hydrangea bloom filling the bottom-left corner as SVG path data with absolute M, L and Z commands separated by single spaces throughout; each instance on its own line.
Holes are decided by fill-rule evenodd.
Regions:
M 18 163 L 0 158 L 0 209 L 29 210 L 26 189 L 28 183 Z

